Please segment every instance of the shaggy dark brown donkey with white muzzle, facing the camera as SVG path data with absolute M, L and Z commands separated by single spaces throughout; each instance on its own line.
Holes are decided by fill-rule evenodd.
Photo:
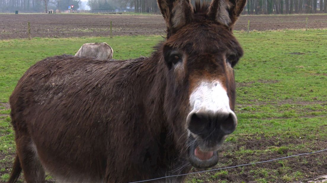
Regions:
M 130 182 L 218 162 L 237 124 L 232 34 L 245 0 L 158 0 L 167 38 L 150 57 L 57 56 L 31 66 L 10 97 L 27 182 Z M 160 179 L 182 182 L 185 176 Z

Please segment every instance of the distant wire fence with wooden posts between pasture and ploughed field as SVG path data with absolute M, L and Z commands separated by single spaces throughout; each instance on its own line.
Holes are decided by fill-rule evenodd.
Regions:
M 249 19 L 251 20 L 251 19 Z M 298 24 L 294 24 L 297 22 Z M 292 24 L 289 24 L 292 23 Z M 139 25 L 139 26 L 137 26 Z M 146 25 L 151 25 L 150 27 Z M 157 25 L 157 26 L 155 26 Z M 246 26 L 247 25 L 247 26 Z M 162 34 L 165 29 L 165 22 L 127 22 L 127 23 L 77 23 L 77 24 L 31 24 L 28 28 L 26 24 L 20 25 L 0 25 L 0 39 L 9 37 L 32 36 L 83 36 L 83 35 L 138 35 L 138 34 Z M 266 31 L 283 29 L 321 29 L 327 28 L 327 19 L 297 20 L 297 21 L 266 21 L 236 23 L 234 30 Z M 2 36 L 3 35 L 3 36 Z M 26 37 L 26 36 L 25 36 Z

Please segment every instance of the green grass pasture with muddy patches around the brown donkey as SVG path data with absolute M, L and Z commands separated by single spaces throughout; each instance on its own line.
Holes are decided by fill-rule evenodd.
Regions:
M 327 148 L 327 31 L 235 32 L 235 36 L 245 53 L 235 66 L 239 123 L 215 168 Z M 8 100 L 29 66 L 45 57 L 75 54 L 88 42 L 109 43 L 115 59 L 148 56 L 161 40 L 161 36 L 1 40 L 0 182 L 9 177 L 15 153 Z M 304 182 L 325 174 L 327 152 L 322 152 L 194 174 L 187 181 Z

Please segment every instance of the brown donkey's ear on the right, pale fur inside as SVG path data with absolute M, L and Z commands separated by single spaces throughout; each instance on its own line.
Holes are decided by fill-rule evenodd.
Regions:
M 209 18 L 232 28 L 243 11 L 246 0 L 213 0 L 209 6 Z

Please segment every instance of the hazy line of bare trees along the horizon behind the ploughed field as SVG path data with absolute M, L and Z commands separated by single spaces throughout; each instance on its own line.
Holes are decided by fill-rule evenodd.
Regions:
M 191 0 L 192 4 L 196 0 Z M 210 2 L 211 0 L 201 0 Z M 0 12 L 43 12 L 47 9 L 67 10 L 80 0 L 0 0 Z M 160 13 L 157 0 L 88 0 L 94 10 L 134 8 L 135 12 Z M 327 0 L 247 0 L 243 14 L 327 13 Z

